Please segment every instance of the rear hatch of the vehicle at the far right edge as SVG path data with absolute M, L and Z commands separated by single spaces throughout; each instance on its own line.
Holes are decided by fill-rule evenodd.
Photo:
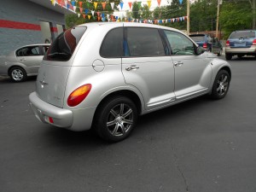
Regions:
M 255 38 L 253 31 L 238 31 L 232 32 L 228 40 L 230 41 L 230 48 L 250 48 Z

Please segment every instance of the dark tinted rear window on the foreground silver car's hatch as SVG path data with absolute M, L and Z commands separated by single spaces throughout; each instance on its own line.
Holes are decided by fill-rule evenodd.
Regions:
M 44 60 L 68 61 L 85 31 L 85 26 L 76 26 L 62 32 L 50 45 L 47 54 L 44 55 Z

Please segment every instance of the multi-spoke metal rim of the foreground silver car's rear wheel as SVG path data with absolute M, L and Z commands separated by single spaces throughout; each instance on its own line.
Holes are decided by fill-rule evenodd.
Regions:
M 107 128 L 114 137 L 124 136 L 133 125 L 133 111 L 125 103 L 120 103 L 111 108 L 107 118 Z

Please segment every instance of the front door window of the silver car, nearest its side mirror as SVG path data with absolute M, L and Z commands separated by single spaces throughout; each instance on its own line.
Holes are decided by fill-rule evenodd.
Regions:
M 179 32 L 165 30 L 166 37 L 171 45 L 172 55 L 195 55 L 195 47 L 189 38 Z

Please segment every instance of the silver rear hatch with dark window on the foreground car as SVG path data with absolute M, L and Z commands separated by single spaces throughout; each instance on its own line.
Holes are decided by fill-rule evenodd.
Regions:
M 85 26 L 76 26 L 62 32 L 44 55 L 36 83 L 36 92 L 44 102 L 63 108 L 73 53 L 85 31 Z

